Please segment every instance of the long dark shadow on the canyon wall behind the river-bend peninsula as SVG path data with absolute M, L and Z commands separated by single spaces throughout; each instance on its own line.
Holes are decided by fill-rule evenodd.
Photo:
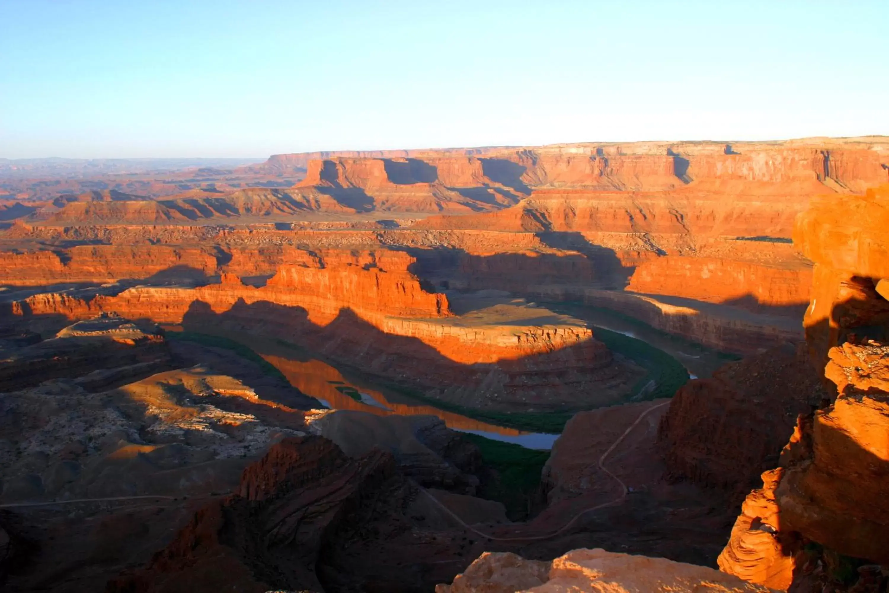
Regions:
M 477 255 L 462 249 L 409 247 L 400 248 L 400 251 L 416 259 L 409 271 L 426 283 L 427 290 L 435 289 L 436 292 L 496 290 L 529 301 L 577 302 L 613 309 L 662 332 L 745 356 L 801 338 L 801 324 L 797 320 L 802 317 L 802 307 L 772 306 L 757 301 L 753 295 L 738 301 L 713 303 L 627 292 L 627 279 L 635 268 L 623 266 L 613 250 L 589 244 L 580 233 L 541 232 L 539 236 L 544 244 L 579 253 Z M 665 312 L 657 302 L 725 318 L 726 323 L 701 336 L 699 314 Z

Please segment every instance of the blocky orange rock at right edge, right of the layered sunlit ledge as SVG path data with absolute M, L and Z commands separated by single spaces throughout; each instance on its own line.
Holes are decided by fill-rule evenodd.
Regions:
M 846 342 L 829 357 L 840 395 L 800 423 L 784 453 L 778 528 L 889 565 L 889 345 Z

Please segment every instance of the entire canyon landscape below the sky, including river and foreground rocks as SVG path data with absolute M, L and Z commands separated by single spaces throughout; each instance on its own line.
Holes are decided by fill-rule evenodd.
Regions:
M 889 138 L 60 167 L 0 587 L 885 593 Z

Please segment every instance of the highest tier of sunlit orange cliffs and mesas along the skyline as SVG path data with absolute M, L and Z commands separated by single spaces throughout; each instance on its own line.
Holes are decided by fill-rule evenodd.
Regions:
M 151 224 L 310 212 L 472 214 L 527 198 L 517 212 L 493 221 L 450 224 L 787 237 L 811 196 L 861 192 L 889 180 L 887 167 L 889 149 L 878 138 L 342 151 L 278 155 L 243 170 L 305 170 L 305 178 L 286 190 L 191 188 L 159 202 L 133 201 L 138 196 L 78 200 L 20 215 L 54 223 Z

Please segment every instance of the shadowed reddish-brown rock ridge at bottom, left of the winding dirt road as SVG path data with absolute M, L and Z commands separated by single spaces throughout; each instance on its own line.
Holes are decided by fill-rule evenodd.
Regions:
M 284 440 L 244 471 L 238 494 L 199 511 L 170 546 L 113 591 L 323 590 L 319 544 L 393 475 L 383 453 L 349 461 L 318 437 Z

